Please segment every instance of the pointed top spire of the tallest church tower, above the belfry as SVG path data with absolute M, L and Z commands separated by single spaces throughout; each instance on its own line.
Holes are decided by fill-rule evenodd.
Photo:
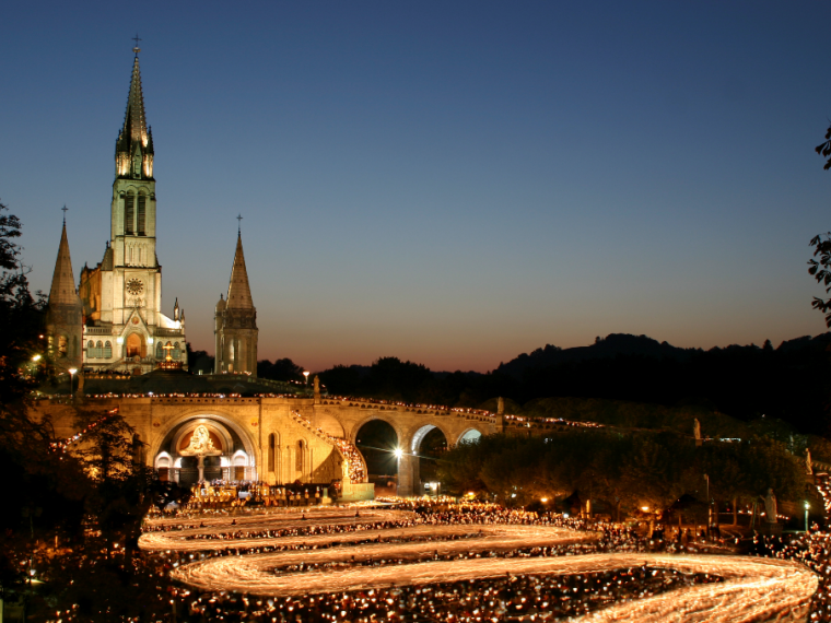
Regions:
M 139 48 L 133 48 L 130 92 L 124 127 L 116 141 L 116 175 L 133 179 L 153 178 L 153 137 L 144 115 L 144 95 L 141 91 Z

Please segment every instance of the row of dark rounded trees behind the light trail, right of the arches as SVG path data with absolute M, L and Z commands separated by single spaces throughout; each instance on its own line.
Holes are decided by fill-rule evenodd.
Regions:
M 508 505 L 592 498 L 615 513 L 667 509 L 683 495 L 706 501 L 705 473 L 714 498 L 752 502 L 772 486 L 781 498 L 798 499 L 803 470 L 800 459 L 766 437 L 697 446 L 672 433 L 592 428 L 484 436 L 449 450 L 438 469 L 450 493 L 495 494 Z

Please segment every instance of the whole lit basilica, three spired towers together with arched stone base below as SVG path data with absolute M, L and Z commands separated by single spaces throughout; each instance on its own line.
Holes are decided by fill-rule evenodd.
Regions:
M 257 310 L 239 231 L 227 293 L 212 310 L 214 368 L 189 374 L 185 310 L 178 299 L 169 315 L 162 310 L 155 154 L 140 50 L 133 51 L 116 140 L 109 240 L 101 262 L 84 266 L 77 285 L 63 221 L 45 332 L 63 374 L 37 392 L 34 416 L 51 422 L 71 446 L 83 443 L 80 408 L 102 419 L 119 413 L 133 431 L 137 459 L 179 485 L 338 483 L 343 499 L 374 495 L 355 445 L 370 422 L 395 431 L 397 449 L 389 451 L 401 495 L 423 491 L 419 452 L 428 432 L 438 428 L 452 445 L 503 431 L 501 413 L 329 397 L 316 377 L 312 387 L 258 378 Z

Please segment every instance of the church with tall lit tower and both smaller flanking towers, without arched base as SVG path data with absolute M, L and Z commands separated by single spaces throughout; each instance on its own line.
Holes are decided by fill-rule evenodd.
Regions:
M 116 140 L 109 242 L 75 287 L 63 221 L 46 319 L 48 349 L 58 365 L 87 375 L 143 375 L 187 369 L 185 310 L 162 310 L 162 266 L 156 255 L 153 133 L 144 115 L 139 48 L 133 48 L 124 126 Z M 227 296 L 214 310 L 214 373 L 256 375 L 257 310 L 245 268 L 242 235 Z

